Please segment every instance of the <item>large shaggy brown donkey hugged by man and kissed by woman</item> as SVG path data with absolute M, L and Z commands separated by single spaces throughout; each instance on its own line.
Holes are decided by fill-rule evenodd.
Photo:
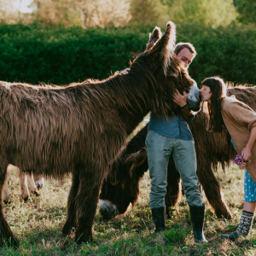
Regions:
M 173 91 L 193 84 L 172 57 L 175 39 L 172 22 L 162 36 L 155 28 L 126 76 L 64 87 L 0 82 L 1 191 L 9 164 L 46 177 L 72 172 L 62 232 L 75 227 L 77 242 L 90 241 L 102 181 L 126 137 L 150 110 L 174 111 Z M 0 201 L 0 241 L 17 245 Z

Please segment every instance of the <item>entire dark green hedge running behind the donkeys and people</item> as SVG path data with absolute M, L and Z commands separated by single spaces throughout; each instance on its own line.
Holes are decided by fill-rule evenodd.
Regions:
M 70 84 L 105 79 L 128 67 L 145 49 L 153 27 L 60 28 L 38 25 L 0 26 L 0 79 L 9 82 Z M 164 28 L 162 29 L 164 31 Z M 177 24 L 177 42 L 198 52 L 189 73 L 198 83 L 212 75 L 256 84 L 256 29 Z

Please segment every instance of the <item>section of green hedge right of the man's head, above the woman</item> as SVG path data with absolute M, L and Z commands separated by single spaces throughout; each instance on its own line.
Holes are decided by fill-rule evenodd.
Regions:
M 235 84 L 256 84 L 256 29 L 178 25 L 177 42 L 189 41 L 198 53 L 189 74 L 198 83 L 218 75 Z

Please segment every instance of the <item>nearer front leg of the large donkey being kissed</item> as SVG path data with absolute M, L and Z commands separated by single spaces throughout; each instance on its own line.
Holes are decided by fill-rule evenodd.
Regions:
M 102 175 L 99 171 L 81 173 L 79 191 L 76 197 L 76 219 L 78 230 L 75 241 L 82 243 L 92 241 L 92 224 L 96 215 L 96 207 L 102 186 Z

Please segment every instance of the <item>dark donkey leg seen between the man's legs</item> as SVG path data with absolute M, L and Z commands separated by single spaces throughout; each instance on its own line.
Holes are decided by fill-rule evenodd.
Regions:
M 176 166 L 170 157 L 168 169 L 167 169 L 167 191 L 166 191 L 166 214 L 167 218 L 171 218 L 170 207 L 175 207 L 176 212 L 177 204 L 180 201 L 181 186 L 180 186 L 180 175 L 177 172 Z

